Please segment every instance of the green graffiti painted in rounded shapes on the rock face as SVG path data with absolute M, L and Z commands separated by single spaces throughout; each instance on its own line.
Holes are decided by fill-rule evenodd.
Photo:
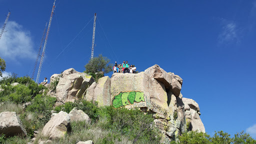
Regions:
M 121 106 L 133 104 L 134 102 L 140 102 L 144 100 L 144 93 L 140 91 L 128 91 L 120 92 L 118 95 L 115 95 L 113 98 L 114 108 Z

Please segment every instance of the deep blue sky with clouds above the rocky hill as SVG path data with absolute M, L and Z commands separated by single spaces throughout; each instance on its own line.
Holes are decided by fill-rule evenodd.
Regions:
M 31 75 L 52 4 L 0 0 L 0 25 L 11 11 L 0 39 L 3 74 Z M 94 55 L 178 74 L 206 132 L 244 130 L 256 138 L 256 0 L 56 0 L 39 81 L 71 67 L 84 70 L 94 12 Z

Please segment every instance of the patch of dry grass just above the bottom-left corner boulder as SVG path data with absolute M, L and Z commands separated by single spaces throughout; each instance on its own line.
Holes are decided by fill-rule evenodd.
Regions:
M 24 113 L 24 110 L 21 104 L 15 104 L 12 102 L 0 104 L 0 112 L 4 112 L 4 111 L 15 111 L 17 114 Z

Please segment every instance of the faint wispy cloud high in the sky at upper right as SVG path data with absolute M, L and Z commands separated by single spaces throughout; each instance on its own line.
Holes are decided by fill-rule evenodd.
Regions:
M 239 28 L 234 21 L 229 21 L 224 18 L 219 18 L 222 29 L 218 35 L 219 43 L 239 42 Z

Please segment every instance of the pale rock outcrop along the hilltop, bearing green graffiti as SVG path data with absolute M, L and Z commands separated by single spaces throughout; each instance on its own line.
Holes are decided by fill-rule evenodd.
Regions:
M 51 80 L 57 74 L 51 76 Z M 77 98 L 98 101 L 99 106 L 139 108 L 153 114 L 155 126 L 168 143 L 189 130 L 205 132 L 198 104 L 180 93 L 182 78 L 153 65 L 139 73 L 114 73 L 98 82 L 85 73 L 69 68 L 59 75 L 56 91 L 58 104 Z

